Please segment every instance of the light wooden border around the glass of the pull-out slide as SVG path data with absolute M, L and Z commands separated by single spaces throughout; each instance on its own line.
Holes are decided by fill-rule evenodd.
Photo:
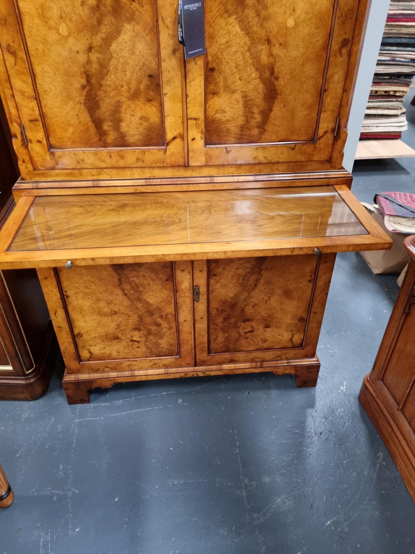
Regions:
M 272 188 L 272 187 L 271 187 Z M 333 187 L 366 234 L 334 235 L 323 237 L 294 237 L 272 240 L 222 240 L 221 242 L 198 242 L 177 244 L 154 244 L 117 247 L 66 248 L 14 252 L 9 247 L 20 225 L 27 217 L 30 207 L 37 198 L 37 192 L 22 196 L 4 225 L 0 238 L 1 269 L 62 267 L 67 260 L 74 265 L 97 265 L 111 263 L 134 263 L 170 260 L 203 260 L 217 258 L 253 258 L 258 256 L 284 256 L 313 254 L 319 248 L 323 254 L 355 252 L 360 250 L 386 250 L 392 241 L 377 225 L 366 209 L 345 185 Z M 33 194 L 33 196 L 32 196 Z M 139 194 L 139 193 L 137 193 Z M 45 195 L 47 197 L 48 195 Z M 39 195 L 42 197 L 42 194 Z

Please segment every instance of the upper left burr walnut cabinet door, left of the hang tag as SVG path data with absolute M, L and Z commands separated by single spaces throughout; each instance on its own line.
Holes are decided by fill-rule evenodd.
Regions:
M 35 170 L 185 163 L 172 0 L 2 0 L 0 45 Z

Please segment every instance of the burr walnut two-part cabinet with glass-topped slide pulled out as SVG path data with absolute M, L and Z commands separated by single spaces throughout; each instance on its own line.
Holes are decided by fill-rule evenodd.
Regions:
M 3 0 L 22 178 L 0 268 L 36 268 L 71 403 L 272 371 L 314 386 L 336 252 L 390 248 L 341 167 L 366 1 Z

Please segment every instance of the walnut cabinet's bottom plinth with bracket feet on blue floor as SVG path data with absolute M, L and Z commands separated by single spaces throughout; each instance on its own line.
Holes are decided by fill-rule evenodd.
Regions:
M 108 373 L 65 372 L 63 386 L 69 404 L 87 404 L 90 390 L 110 388 L 115 383 L 148 381 L 148 379 L 174 379 L 178 377 L 203 377 L 207 375 L 238 375 L 240 373 L 272 372 L 274 375 L 297 376 L 297 387 L 315 387 L 320 369 L 317 356 L 312 359 L 286 360 L 273 362 L 229 363 L 219 366 L 178 367 L 169 370 L 149 369 L 132 371 L 112 371 Z

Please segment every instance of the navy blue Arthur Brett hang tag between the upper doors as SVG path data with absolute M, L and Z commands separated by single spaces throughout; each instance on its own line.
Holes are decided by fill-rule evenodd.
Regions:
M 182 32 L 181 37 L 179 32 L 179 42 L 180 38 L 184 40 L 184 57 L 186 60 L 200 54 L 205 54 L 203 0 L 199 2 L 179 0 L 179 19 L 181 20 L 179 28 L 181 28 Z

